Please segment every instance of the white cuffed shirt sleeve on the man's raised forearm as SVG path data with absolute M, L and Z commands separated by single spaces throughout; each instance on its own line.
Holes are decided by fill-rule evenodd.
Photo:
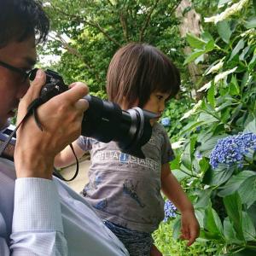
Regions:
M 61 203 L 52 180 L 36 177 L 16 179 L 10 239 L 10 254 L 3 255 L 68 254 Z

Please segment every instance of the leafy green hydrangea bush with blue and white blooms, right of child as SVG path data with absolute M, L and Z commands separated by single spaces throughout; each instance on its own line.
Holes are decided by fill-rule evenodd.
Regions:
M 199 241 L 211 243 L 214 255 L 256 255 L 255 10 L 249 0 L 220 0 L 218 7 L 220 14 L 205 19 L 216 25 L 217 38 L 206 31 L 187 36 L 194 51 L 184 63 L 208 66 L 200 89 L 205 96 L 184 114 L 189 122 L 176 136 L 183 148 L 171 168 L 195 206 Z M 179 218 L 172 223 L 177 238 Z M 155 239 L 169 255 L 172 245 L 160 242 L 172 242 L 166 229 L 162 224 Z

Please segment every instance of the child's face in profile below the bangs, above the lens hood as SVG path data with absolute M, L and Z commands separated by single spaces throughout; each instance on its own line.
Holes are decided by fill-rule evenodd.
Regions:
M 166 100 L 169 98 L 169 93 L 153 92 L 151 93 L 148 102 L 143 106 L 143 109 L 162 115 L 166 108 Z M 156 122 L 157 119 L 154 119 Z

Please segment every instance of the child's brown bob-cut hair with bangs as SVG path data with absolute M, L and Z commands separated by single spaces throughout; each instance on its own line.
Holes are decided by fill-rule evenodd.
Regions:
M 130 43 L 120 48 L 108 67 L 107 93 L 111 102 L 143 108 L 151 93 L 176 96 L 180 74 L 172 61 L 149 44 Z

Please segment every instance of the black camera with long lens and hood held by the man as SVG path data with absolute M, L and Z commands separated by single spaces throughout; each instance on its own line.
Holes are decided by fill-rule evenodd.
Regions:
M 37 73 L 35 69 L 30 75 L 33 80 Z M 43 86 L 40 98 L 42 102 L 49 101 L 53 96 L 68 90 L 61 75 L 47 69 L 46 84 Z M 150 119 L 159 116 L 142 108 L 122 110 L 118 104 L 104 101 L 96 96 L 84 96 L 89 102 L 89 108 L 84 112 L 82 135 L 93 137 L 102 143 L 114 141 L 124 153 L 145 158 L 142 147 L 151 137 Z

